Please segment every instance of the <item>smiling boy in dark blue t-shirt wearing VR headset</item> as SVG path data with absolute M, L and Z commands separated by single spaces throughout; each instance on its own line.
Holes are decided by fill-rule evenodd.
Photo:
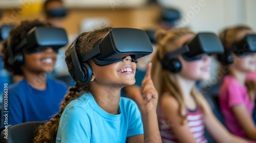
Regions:
M 55 50 L 67 44 L 65 34 L 63 29 L 52 28 L 39 20 L 25 20 L 11 29 L 8 39 L 3 41 L 4 68 L 13 76 L 24 78 L 7 85 L 8 92 L 3 99 L 8 104 L 2 106 L 1 128 L 49 121 L 49 116 L 58 111 L 68 88 L 60 81 L 47 78 L 47 73 L 56 62 Z

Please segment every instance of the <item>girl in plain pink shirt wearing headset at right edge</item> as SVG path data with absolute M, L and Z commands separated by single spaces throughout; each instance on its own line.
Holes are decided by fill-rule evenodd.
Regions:
M 256 142 L 252 119 L 256 84 L 246 75 L 256 71 L 256 34 L 247 26 L 231 27 L 220 33 L 225 53 L 218 55 L 223 79 L 219 90 L 225 126 L 234 135 Z

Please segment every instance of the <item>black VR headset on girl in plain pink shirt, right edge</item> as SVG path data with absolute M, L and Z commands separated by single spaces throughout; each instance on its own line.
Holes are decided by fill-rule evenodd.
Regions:
M 256 34 L 247 34 L 243 39 L 235 42 L 224 54 L 218 55 L 218 60 L 223 64 L 233 63 L 232 53 L 243 57 L 256 52 Z

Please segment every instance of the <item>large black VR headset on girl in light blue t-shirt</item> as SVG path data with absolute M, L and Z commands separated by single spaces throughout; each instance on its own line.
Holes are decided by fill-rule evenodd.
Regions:
M 147 34 L 140 29 L 133 28 L 113 28 L 102 39 L 99 39 L 92 50 L 78 58 L 76 54 L 76 42 L 80 34 L 71 46 L 71 58 L 74 68 L 69 70 L 71 76 L 77 76 L 81 82 L 88 83 L 92 79 L 92 69 L 85 63 L 92 59 L 95 64 L 104 66 L 119 62 L 127 55 L 131 55 L 132 60 L 149 55 L 153 52 L 153 47 Z

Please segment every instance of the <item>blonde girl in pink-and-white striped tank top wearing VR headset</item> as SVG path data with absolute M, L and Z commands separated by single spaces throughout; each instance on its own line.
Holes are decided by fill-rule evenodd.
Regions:
M 159 30 L 152 58 L 152 80 L 159 93 L 158 120 L 163 142 L 246 142 L 230 134 L 212 113 L 196 82 L 209 78 L 210 56 L 223 52 L 213 33 Z

